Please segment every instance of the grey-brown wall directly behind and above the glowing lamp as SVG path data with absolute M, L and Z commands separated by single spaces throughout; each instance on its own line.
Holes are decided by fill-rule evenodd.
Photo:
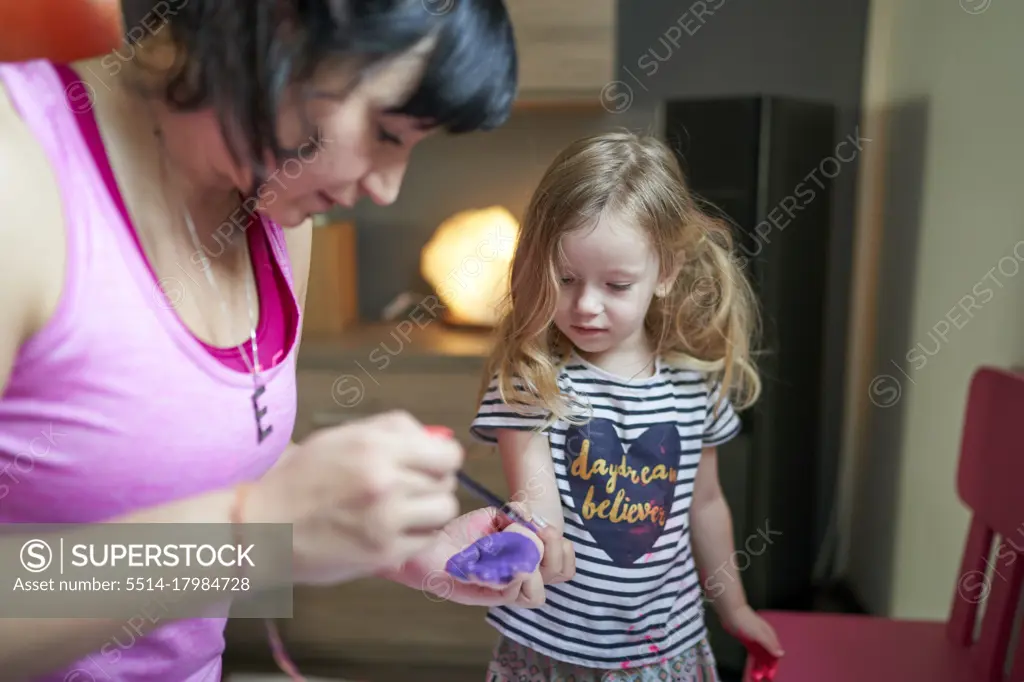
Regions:
M 351 212 L 357 226 L 359 312 L 379 318 L 406 291 L 429 293 L 419 273 L 420 249 L 444 218 L 468 208 L 503 205 L 517 218 L 558 151 L 584 135 L 612 128 L 649 130 L 651 113 L 622 116 L 591 106 L 520 108 L 496 131 L 427 138 L 417 146 L 398 200 L 381 208 L 362 202 Z

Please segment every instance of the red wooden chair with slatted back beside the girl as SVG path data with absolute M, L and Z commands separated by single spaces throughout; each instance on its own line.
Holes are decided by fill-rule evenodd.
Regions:
M 1011 641 L 1024 579 L 1024 374 L 985 367 L 972 378 L 956 491 L 973 517 L 949 620 L 763 611 L 785 649 L 775 682 L 1024 682 L 1024 642 Z M 750 663 L 743 679 L 755 679 Z

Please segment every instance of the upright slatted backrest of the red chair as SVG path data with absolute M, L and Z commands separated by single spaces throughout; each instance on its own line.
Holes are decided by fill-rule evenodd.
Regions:
M 979 682 L 1024 680 L 1024 645 L 1011 645 L 1024 582 L 1024 374 L 983 367 L 972 377 L 956 489 L 973 517 L 949 636 L 970 649 Z

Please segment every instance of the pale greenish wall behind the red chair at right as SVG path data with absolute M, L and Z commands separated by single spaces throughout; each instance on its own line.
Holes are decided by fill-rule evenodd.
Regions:
M 873 612 L 939 620 L 969 520 L 954 480 L 970 378 L 1024 360 L 1024 4 L 872 12 L 844 562 Z

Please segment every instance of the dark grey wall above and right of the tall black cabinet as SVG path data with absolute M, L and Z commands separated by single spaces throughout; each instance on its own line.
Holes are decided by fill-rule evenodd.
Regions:
M 620 2 L 622 83 L 614 100 L 623 92 L 633 95 L 634 106 L 663 97 L 759 93 L 823 100 L 840 110 L 839 141 L 857 131 L 867 5 L 867 0 Z M 858 159 L 844 164 L 834 180 L 819 539 L 831 518 L 841 447 L 857 166 Z

